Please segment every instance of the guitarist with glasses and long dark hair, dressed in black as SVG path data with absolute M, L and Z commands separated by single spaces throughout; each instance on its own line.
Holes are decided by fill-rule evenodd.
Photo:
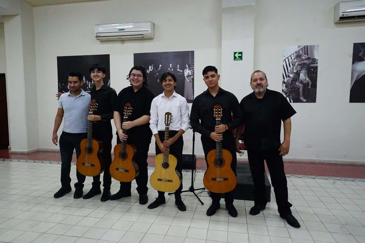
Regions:
M 139 166 L 139 175 L 136 177 L 139 203 L 146 204 L 147 197 L 147 157 L 151 143 L 152 132 L 150 129 L 150 109 L 153 93 L 147 89 L 147 75 L 144 67 L 135 66 L 129 71 L 128 78 L 131 86 L 119 92 L 114 106 L 114 124 L 117 130 L 117 143 L 121 140 L 134 144 L 137 147 L 135 162 Z M 130 103 L 132 113 L 128 121 L 122 123 L 124 106 Z M 122 129 L 126 129 L 127 134 Z M 110 197 L 110 200 L 118 200 L 131 196 L 131 182 L 120 182 L 120 189 Z

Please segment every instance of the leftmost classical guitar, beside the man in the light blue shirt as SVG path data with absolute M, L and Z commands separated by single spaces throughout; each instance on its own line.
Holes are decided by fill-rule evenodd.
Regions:
M 97 103 L 92 99 L 89 107 L 89 115 L 96 110 Z M 76 169 L 82 175 L 96 176 L 104 171 L 103 142 L 98 138 L 92 138 L 93 121 L 88 121 L 88 138 L 80 142 L 81 154 L 76 161 Z

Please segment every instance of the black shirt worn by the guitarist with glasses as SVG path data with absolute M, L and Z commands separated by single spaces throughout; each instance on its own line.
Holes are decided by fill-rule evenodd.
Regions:
M 118 111 L 120 113 L 121 122 L 123 123 L 124 106 L 126 103 L 131 103 L 133 110 L 131 115 L 128 117 L 128 121 L 134 121 L 143 115 L 151 115 L 150 110 L 153 98 L 155 98 L 155 96 L 145 86 L 142 86 L 141 89 L 137 90 L 137 92 L 134 92 L 133 87 L 129 86 L 119 92 L 118 98 L 115 102 L 114 111 Z M 152 134 L 149 122 L 128 130 L 128 134 L 142 135 L 145 133 Z

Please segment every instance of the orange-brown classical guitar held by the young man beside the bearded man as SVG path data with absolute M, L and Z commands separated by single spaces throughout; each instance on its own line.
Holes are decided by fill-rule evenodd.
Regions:
M 214 106 L 216 126 L 220 125 L 222 107 Z M 222 142 L 216 142 L 216 149 L 207 154 L 208 169 L 203 177 L 204 187 L 211 192 L 225 193 L 232 191 L 237 184 L 236 175 L 231 169 L 232 154 L 222 149 Z

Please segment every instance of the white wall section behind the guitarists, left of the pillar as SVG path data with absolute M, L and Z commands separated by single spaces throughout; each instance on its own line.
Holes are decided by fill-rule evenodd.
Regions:
M 104 23 L 153 21 L 155 38 L 99 42 L 93 26 Z M 206 89 L 201 70 L 221 64 L 222 8 L 219 0 L 202 1 L 99 1 L 34 8 L 37 56 L 40 147 L 58 148 L 51 142 L 57 111 L 57 56 L 110 54 L 111 86 L 119 92 L 129 83 L 125 76 L 137 52 L 195 51 L 195 94 Z M 62 128 L 62 125 L 61 125 Z M 59 133 L 61 133 L 61 129 Z M 191 131 L 184 135 L 184 151 L 191 150 Z M 114 135 L 113 142 L 115 143 Z M 203 154 L 199 136 L 197 153 Z M 154 152 L 154 139 L 150 152 Z

